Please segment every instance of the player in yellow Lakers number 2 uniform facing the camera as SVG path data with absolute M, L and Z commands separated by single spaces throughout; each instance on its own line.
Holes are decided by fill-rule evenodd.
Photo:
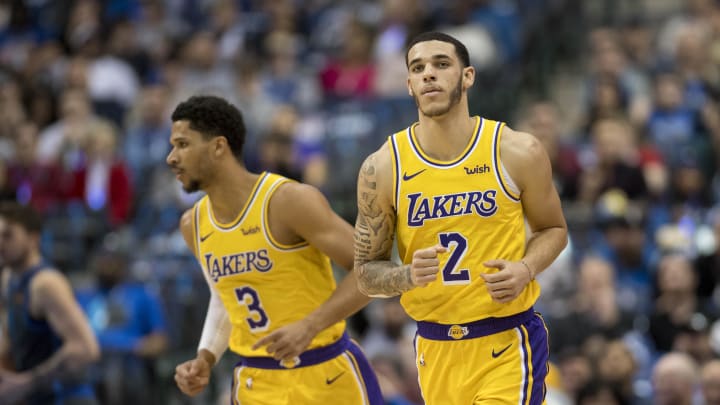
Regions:
M 475 71 L 458 40 L 420 34 L 406 58 L 419 122 L 361 168 L 360 290 L 401 295 L 417 321 L 427 404 L 540 404 L 548 346 L 535 276 L 567 243 L 550 162 L 533 136 L 469 115 Z

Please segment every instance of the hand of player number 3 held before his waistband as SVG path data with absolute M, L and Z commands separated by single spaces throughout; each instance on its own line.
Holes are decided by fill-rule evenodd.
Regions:
M 272 331 L 255 342 L 252 349 L 267 346 L 265 350 L 275 360 L 291 361 L 305 351 L 318 332 L 311 322 L 301 319 Z

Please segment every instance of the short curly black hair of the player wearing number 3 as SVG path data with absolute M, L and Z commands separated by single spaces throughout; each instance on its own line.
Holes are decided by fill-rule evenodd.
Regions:
M 242 162 L 245 145 L 245 122 L 242 113 L 229 101 L 217 96 L 192 96 L 175 107 L 173 122 L 186 120 L 190 129 L 206 139 L 224 136 L 235 159 Z

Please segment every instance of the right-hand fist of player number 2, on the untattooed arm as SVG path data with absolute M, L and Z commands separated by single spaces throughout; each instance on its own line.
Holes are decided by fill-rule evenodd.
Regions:
M 488 260 L 485 267 L 499 269 L 497 273 L 480 274 L 494 301 L 505 303 L 514 300 L 531 281 L 524 264 L 507 260 Z

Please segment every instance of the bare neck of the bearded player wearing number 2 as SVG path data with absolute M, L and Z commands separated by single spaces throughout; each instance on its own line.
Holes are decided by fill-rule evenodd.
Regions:
M 457 158 L 467 147 L 475 130 L 475 118 L 467 108 L 457 105 L 440 117 L 420 115 L 415 135 L 428 156 L 449 161 Z

